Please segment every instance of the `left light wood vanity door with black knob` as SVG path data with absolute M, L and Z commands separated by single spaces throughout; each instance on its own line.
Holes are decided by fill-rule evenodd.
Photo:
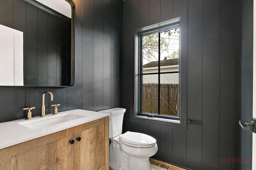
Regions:
M 74 129 L 66 129 L 10 147 L 11 169 L 70 170 L 74 168 Z

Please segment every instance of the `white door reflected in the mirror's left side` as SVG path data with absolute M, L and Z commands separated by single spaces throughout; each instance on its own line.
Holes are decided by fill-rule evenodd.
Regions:
M 0 25 L 0 85 L 23 86 L 23 32 Z

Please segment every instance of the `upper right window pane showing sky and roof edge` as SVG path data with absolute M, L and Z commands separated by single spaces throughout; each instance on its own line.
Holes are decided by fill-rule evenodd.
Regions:
M 160 72 L 179 70 L 179 28 L 160 33 Z

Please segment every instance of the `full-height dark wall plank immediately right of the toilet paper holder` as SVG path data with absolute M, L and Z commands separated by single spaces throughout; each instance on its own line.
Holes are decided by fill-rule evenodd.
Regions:
M 211 42 L 211 43 L 209 43 Z M 219 166 L 220 156 L 220 1 L 203 3 L 202 162 Z M 214 82 L 214 83 L 212 83 Z

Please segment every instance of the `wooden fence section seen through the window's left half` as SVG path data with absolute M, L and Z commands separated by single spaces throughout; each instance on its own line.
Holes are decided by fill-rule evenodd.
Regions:
M 142 84 L 142 112 L 158 113 L 158 83 Z

